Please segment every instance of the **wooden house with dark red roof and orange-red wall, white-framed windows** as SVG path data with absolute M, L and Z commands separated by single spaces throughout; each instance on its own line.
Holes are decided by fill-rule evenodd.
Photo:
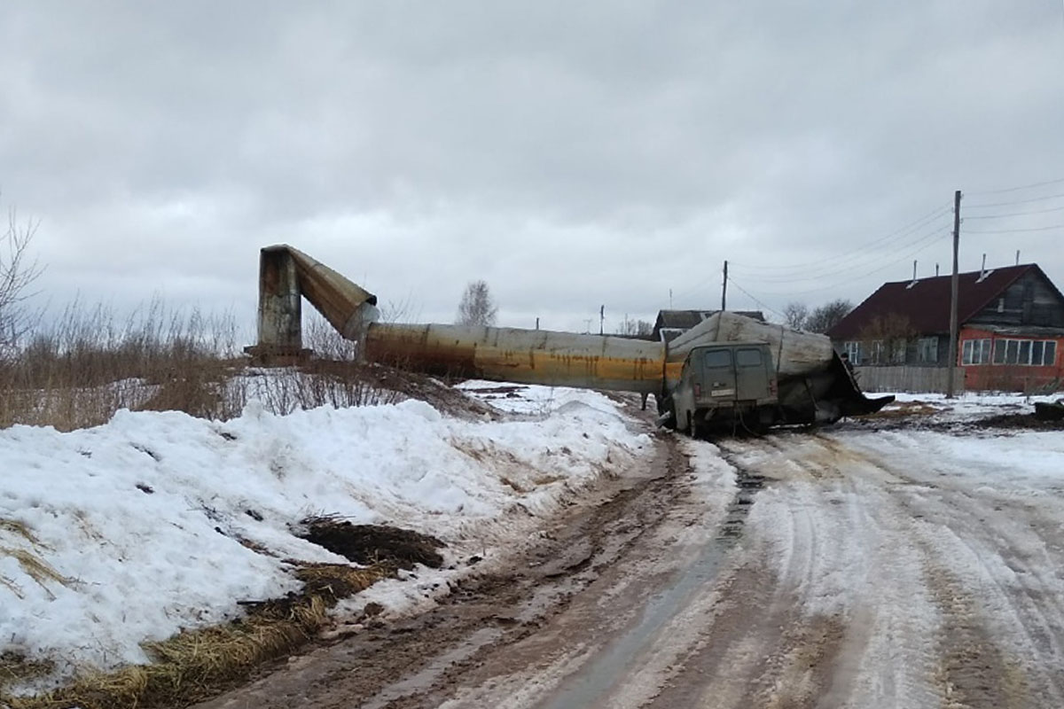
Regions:
M 1064 379 L 1064 296 L 1035 264 L 960 274 L 958 364 L 969 390 Z M 950 276 L 885 283 L 828 335 L 858 366 L 945 367 Z

